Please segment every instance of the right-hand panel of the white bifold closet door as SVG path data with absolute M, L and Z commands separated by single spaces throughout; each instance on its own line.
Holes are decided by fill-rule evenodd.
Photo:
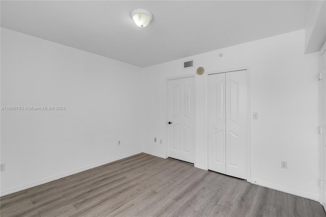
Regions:
M 247 71 L 226 73 L 226 174 L 247 179 Z

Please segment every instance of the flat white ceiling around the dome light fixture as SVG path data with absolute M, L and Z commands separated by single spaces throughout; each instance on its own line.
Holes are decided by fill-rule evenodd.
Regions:
M 153 21 L 139 28 L 134 9 Z M 1 1 L 1 26 L 147 67 L 305 28 L 310 1 Z

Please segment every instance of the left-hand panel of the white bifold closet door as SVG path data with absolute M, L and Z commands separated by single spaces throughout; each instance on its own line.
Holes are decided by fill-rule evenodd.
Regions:
M 208 76 L 208 169 L 226 173 L 225 74 Z

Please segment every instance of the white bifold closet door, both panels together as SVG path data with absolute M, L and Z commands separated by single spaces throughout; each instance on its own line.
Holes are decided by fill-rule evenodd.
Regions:
M 208 169 L 247 179 L 247 70 L 208 76 Z

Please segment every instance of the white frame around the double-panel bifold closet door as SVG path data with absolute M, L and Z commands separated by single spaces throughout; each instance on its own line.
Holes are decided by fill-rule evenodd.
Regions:
M 207 140 L 207 165 L 208 165 L 208 75 L 210 74 L 220 74 L 233 71 L 244 71 L 247 70 L 247 181 L 251 182 L 251 67 L 237 67 L 226 70 L 218 70 L 208 72 L 206 74 L 206 140 Z M 244 72 L 245 73 L 245 72 Z

